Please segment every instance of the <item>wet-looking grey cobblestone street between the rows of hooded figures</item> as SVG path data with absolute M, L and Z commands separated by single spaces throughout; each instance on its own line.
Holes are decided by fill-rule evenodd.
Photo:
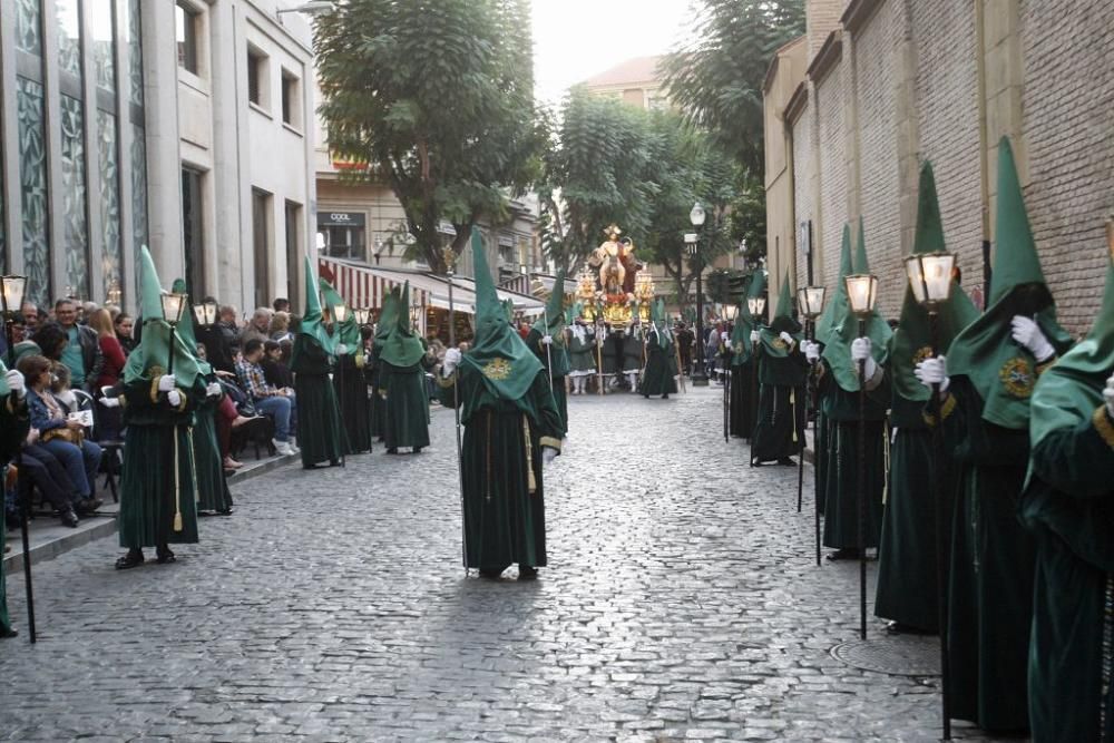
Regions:
M 0 737 L 936 739 L 936 678 L 830 654 L 858 567 L 815 567 L 811 488 L 799 515 L 795 469 L 749 468 L 719 395 L 570 399 L 537 581 L 465 577 L 441 409 L 417 457 L 245 482 L 175 565 L 116 571 L 114 537 L 36 566 L 37 646 L 9 576 Z

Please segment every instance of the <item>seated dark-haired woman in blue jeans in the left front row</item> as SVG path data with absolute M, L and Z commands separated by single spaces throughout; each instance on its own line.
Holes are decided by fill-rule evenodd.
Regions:
M 52 375 L 48 359 L 23 356 L 18 369 L 27 380 L 31 428 L 38 429 L 42 446 L 62 465 L 74 482 L 79 510 L 96 510 L 100 506 L 94 498 L 100 447 L 85 440 L 84 427 L 69 419 L 65 404 L 50 390 Z

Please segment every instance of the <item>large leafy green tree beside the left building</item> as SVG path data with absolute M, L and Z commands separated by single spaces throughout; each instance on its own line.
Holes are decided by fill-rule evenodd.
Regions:
M 540 166 L 528 0 L 348 0 L 315 28 L 330 149 L 388 183 L 414 251 L 444 270 Z

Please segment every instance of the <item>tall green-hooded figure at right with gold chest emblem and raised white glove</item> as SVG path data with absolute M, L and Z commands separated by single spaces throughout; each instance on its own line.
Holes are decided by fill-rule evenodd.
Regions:
M 1014 315 L 1034 316 L 1057 351 L 1056 324 L 1009 141 L 998 147 L 994 285 L 988 310 L 948 350 L 959 491 L 951 541 L 952 716 L 986 731 L 1028 726 L 1026 672 L 1035 542 L 1018 521 L 1029 459 L 1029 401 L 1040 369 L 1010 335 Z

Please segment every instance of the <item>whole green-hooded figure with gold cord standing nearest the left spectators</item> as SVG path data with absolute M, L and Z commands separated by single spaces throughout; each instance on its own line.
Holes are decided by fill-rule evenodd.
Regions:
M 128 549 L 197 541 L 194 480 L 194 411 L 205 402 L 201 361 L 163 320 L 162 284 L 146 247 L 139 254 L 143 334 L 124 369 L 124 470 L 120 477 L 120 546 Z M 188 317 L 189 310 L 185 312 Z M 188 338 L 188 335 L 187 335 Z M 158 380 L 173 358 L 172 405 Z

